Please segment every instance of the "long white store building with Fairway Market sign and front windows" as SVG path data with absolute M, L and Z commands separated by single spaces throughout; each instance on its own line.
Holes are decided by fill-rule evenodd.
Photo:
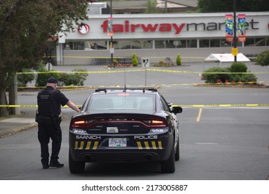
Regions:
M 225 41 L 228 13 L 178 13 L 113 15 L 113 57 L 150 58 L 151 63 L 180 54 L 183 62 L 203 62 L 211 53 L 231 53 Z M 232 14 L 232 13 L 230 13 Z M 239 53 L 254 56 L 269 50 L 269 12 L 245 14 L 246 42 L 237 42 Z M 96 58 L 110 58 L 108 35 L 110 15 L 89 15 L 80 28 L 59 39 L 57 65 L 93 64 Z

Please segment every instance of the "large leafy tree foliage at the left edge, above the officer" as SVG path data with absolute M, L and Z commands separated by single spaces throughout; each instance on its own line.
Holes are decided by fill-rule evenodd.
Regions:
M 35 68 L 49 38 L 74 30 L 86 17 L 86 0 L 0 1 L 0 104 L 7 105 L 6 89 L 23 68 Z M 0 107 L 0 116 L 8 109 Z

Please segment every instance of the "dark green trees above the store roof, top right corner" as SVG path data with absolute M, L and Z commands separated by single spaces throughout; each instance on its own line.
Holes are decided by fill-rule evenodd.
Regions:
M 233 12 L 234 0 L 198 0 L 200 12 Z M 236 12 L 269 11 L 268 0 L 236 0 Z

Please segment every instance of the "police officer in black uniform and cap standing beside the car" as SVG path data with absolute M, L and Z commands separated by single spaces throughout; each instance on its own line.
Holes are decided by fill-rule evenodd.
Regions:
M 62 121 L 61 105 L 68 105 L 76 112 L 80 109 L 71 100 L 68 100 L 61 91 L 57 90 L 57 80 L 55 78 L 48 78 L 45 89 L 39 91 L 37 95 L 37 123 L 38 123 L 38 140 L 41 145 L 41 164 L 43 168 L 49 167 L 63 167 L 58 159 L 59 150 L 62 143 L 62 130 L 60 123 Z M 48 143 L 52 139 L 52 152 L 50 156 L 50 163 L 48 165 L 49 153 Z

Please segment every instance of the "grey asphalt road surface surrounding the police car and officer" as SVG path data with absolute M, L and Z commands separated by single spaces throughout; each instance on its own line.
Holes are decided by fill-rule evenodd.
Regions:
M 110 73 L 109 76 L 117 74 Z M 158 73 L 152 82 L 158 82 Z M 154 80 L 155 79 L 155 80 Z M 172 82 L 173 76 L 162 79 Z M 108 84 L 106 82 L 105 84 Z M 158 89 L 174 105 L 266 104 L 266 88 L 161 85 Z M 63 91 L 82 105 L 93 89 Z M 19 103 L 32 105 L 36 92 L 21 93 Z M 35 110 L 21 108 L 34 115 Z M 85 173 L 68 170 L 68 125 L 73 110 L 62 109 L 63 142 L 59 161 L 64 168 L 43 170 L 37 127 L 0 139 L 2 180 L 265 180 L 269 175 L 269 107 L 183 107 L 180 119 L 180 161 L 176 172 L 160 173 L 160 164 L 86 164 Z

